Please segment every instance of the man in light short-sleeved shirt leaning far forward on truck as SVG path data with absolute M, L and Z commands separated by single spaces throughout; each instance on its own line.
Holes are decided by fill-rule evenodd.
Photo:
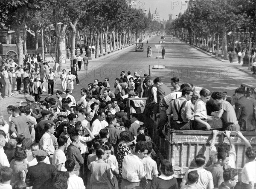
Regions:
M 235 109 L 229 102 L 223 100 L 221 92 L 213 92 L 212 99 L 217 100 L 219 110 L 212 112 L 211 116 L 222 118 L 224 120 L 224 130 L 240 131 L 240 125 L 236 118 Z

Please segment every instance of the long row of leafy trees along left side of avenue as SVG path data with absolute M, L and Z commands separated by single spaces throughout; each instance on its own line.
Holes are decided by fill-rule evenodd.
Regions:
M 130 45 L 137 38 L 149 36 L 161 28 L 160 23 L 145 17 L 142 10 L 129 8 L 125 0 L 3 0 L 0 4 L 0 27 L 15 31 L 17 36 L 18 63 L 22 64 L 23 45 L 26 42 L 26 28 L 35 32 L 35 48 L 38 48 L 38 34 L 54 28 L 52 35 L 56 43 L 56 62 L 61 67 L 61 43 L 66 32 L 71 32 L 71 61 L 75 54 L 77 31 L 96 33 L 96 54 L 99 47 L 108 49 Z M 40 33 L 39 33 L 40 32 Z M 49 39 L 48 39 L 49 40 Z M 42 40 L 42 43 L 44 40 Z M 112 47 L 113 42 L 113 47 Z M 122 43 L 122 44 L 121 44 Z M 42 48 L 44 51 L 44 48 Z M 42 54 L 43 55 L 43 54 Z

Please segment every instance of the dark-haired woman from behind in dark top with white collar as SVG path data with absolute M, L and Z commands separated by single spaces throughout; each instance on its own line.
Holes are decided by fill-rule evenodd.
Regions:
M 152 189 L 178 189 L 177 179 L 173 177 L 172 164 L 169 160 L 164 159 L 160 165 L 161 175 L 154 178 Z

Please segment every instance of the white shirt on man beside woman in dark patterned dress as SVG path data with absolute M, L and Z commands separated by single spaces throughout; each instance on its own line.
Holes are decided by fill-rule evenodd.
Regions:
M 140 182 L 145 177 L 143 164 L 137 155 L 126 155 L 122 162 L 122 178 L 131 183 Z

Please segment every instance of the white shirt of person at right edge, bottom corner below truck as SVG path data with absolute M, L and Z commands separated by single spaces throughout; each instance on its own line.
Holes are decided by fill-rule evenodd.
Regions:
M 242 183 L 249 184 L 249 182 L 256 183 L 256 161 L 251 161 L 244 165 L 242 170 Z

